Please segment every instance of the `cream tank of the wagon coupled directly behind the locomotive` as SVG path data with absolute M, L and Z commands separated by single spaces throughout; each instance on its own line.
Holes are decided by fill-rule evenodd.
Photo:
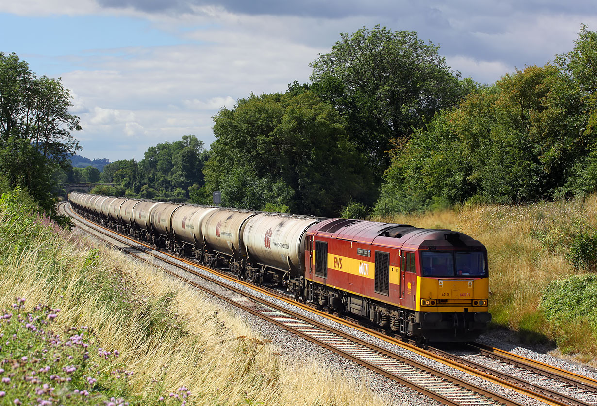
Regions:
M 247 221 L 242 240 L 251 262 L 290 272 L 304 268 L 305 232 L 318 219 L 278 213 L 259 213 Z

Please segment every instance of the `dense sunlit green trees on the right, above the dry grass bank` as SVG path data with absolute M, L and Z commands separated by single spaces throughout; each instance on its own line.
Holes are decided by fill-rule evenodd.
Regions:
M 377 212 L 597 190 L 596 38 L 582 27 L 556 63 L 507 73 L 396 145 Z

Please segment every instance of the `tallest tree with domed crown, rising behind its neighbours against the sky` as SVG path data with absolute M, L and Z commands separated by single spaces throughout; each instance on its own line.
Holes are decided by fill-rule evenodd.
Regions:
M 409 138 L 475 86 L 470 79 L 459 82 L 439 47 L 416 32 L 375 26 L 340 36 L 330 53 L 311 64 L 312 90 L 346 117 L 351 139 L 380 176 L 390 140 Z

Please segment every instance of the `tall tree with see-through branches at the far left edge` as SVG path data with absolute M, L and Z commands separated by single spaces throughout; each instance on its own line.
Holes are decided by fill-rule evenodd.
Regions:
M 16 54 L 0 52 L 0 171 L 52 217 L 54 172 L 67 168 L 79 149 L 70 134 L 81 129 L 79 118 L 68 113 L 70 99 L 60 79 L 36 78 Z

